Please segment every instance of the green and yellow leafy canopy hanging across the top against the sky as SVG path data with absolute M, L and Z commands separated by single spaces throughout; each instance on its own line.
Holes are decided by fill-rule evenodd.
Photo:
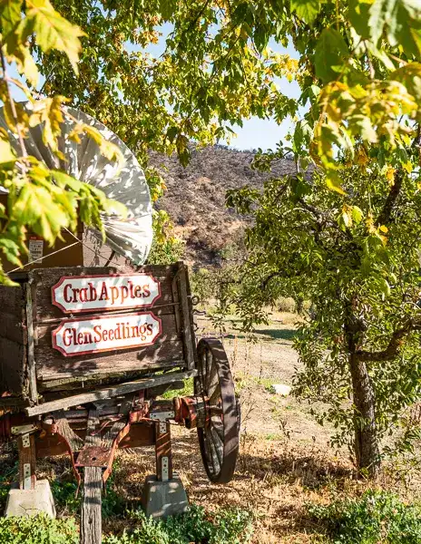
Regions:
M 110 125 L 143 162 L 152 148 L 177 151 L 186 164 L 189 141 L 230 138 L 250 115 L 299 121 L 291 149 L 327 170 L 332 189 L 342 190 L 338 149 L 352 154 L 361 141 L 377 144 L 382 160 L 403 161 L 421 98 L 416 0 L 54 6 L 86 36 L 80 77 L 62 53 L 39 55 L 44 91 Z M 296 59 L 275 51 L 288 43 Z M 299 100 L 282 92 L 282 78 L 299 83 Z M 308 109 L 301 120 L 299 106 Z

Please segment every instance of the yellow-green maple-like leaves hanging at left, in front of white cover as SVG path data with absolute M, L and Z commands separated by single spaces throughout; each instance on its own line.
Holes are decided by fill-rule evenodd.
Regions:
M 27 133 L 40 126 L 44 143 L 57 163 L 58 159 L 65 160 L 58 150 L 58 138 L 64 117 L 71 117 L 63 109 L 68 100 L 62 94 L 35 98 L 29 87 L 9 74 L 9 65 L 15 63 L 27 84 L 36 85 L 39 72 L 30 44 L 36 44 L 40 52 L 64 53 L 77 73 L 83 31 L 56 12 L 48 0 L 1 2 L 0 24 L 0 100 L 5 117 L 5 128 L 0 128 L 0 184 L 8 191 L 7 205 L 0 205 L 0 251 L 16 267 L 22 267 L 28 230 L 53 245 L 62 229 L 76 229 L 78 214 L 86 224 L 102 229 L 101 212 L 111 206 L 117 209 L 117 204 L 64 171 L 49 170 L 42 160 L 28 153 Z M 14 87 L 24 91 L 28 107 L 14 101 Z M 77 134 L 83 131 L 99 144 L 108 159 L 121 159 L 120 152 L 92 127 L 76 123 L 69 138 L 78 141 Z M 1 265 L 0 282 L 10 283 Z

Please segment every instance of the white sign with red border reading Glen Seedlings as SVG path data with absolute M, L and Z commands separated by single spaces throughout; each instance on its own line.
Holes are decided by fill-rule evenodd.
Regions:
M 53 331 L 53 347 L 65 357 L 152 345 L 162 322 L 152 312 L 64 319 Z

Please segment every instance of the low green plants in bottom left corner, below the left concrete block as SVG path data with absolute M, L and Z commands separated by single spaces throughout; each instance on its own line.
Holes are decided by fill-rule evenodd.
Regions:
M 31 518 L 0 518 L 0 544 L 77 544 L 74 520 L 52 520 L 45 515 Z

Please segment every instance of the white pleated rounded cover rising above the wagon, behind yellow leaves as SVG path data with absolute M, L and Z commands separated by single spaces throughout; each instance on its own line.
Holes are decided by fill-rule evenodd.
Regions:
M 29 110 L 30 105 L 25 107 Z M 121 202 L 127 209 L 127 217 L 122 218 L 114 213 L 103 214 L 106 244 L 117 254 L 126 257 L 134 265 L 144 263 L 152 246 L 152 201 L 144 172 L 129 148 L 107 129 L 103 123 L 90 115 L 74 108 L 64 108 L 65 116 L 62 125 L 62 136 L 59 139 L 59 151 L 64 153 L 65 160 L 59 160 L 43 141 L 43 126 L 30 129 L 25 146 L 30 155 L 43 160 L 49 169 L 64 170 L 77 180 L 89 183 L 103 190 L 109 199 Z M 76 123 L 92 126 L 103 138 L 115 144 L 124 158 L 124 166 L 106 159 L 98 144 L 84 132 L 79 135 L 80 143 L 69 140 L 68 135 Z M 10 140 L 17 150 L 15 137 L 7 127 L 3 111 L 0 110 L 0 127 L 10 135 Z M 102 234 L 92 229 L 95 237 L 101 241 Z

